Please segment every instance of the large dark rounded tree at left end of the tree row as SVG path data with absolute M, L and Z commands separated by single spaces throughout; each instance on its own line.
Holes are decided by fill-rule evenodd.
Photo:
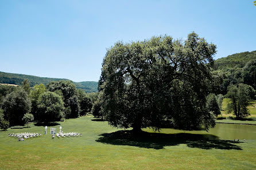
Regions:
M 21 125 L 22 117 L 30 110 L 31 101 L 28 93 L 24 89 L 18 90 L 7 94 L 2 103 L 3 113 L 5 119 L 10 122 L 10 125 Z

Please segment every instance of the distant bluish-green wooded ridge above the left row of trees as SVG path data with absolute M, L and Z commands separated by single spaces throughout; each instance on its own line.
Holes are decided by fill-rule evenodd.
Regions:
M 28 78 L 31 86 L 34 86 L 36 84 L 46 85 L 51 81 L 68 80 L 65 78 L 48 78 L 48 77 L 30 76 L 25 74 L 0 72 L 0 83 L 3 83 L 3 84 L 21 85 L 22 81 L 24 81 L 25 78 Z M 73 83 L 76 85 L 76 88 L 83 89 L 86 93 L 97 92 L 97 89 L 98 89 L 98 82 L 96 81 L 82 81 L 82 82 L 73 82 Z

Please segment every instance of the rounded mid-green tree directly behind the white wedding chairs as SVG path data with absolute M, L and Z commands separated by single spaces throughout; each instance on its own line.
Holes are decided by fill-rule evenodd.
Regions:
M 62 98 L 54 92 L 44 92 L 37 101 L 40 109 L 41 121 L 57 121 L 63 117 L 64 102 Z

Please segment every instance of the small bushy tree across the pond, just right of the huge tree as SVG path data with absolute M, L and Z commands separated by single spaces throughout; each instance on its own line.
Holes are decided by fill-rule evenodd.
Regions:
M 220 107 L 218 104 L 218 98 L 214 93 L 211 93 L 206 98 L 206 108 L 208 112 L 212 112 L 215 116 L 220 114 Z

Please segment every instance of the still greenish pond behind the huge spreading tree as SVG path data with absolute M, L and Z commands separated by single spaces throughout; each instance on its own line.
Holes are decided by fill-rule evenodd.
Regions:
M 153 132 L 152 129 L 143 129 L 146 132 Z M 242 124 L 216 124 L 215 128 L 210 131 L 182 131 L 177 129 L 161 129 L 160 133 L 191 133 L 207 136 L 217 136 L 220 140 L 255 140 L 256 141 L 256 125 L 242 125 Z

